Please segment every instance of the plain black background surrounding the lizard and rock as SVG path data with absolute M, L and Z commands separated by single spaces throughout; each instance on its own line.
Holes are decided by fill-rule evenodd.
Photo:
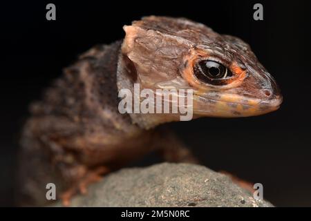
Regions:
M 55 3 L 57 20 L 46 21 Z M 264 20 L 254 21 L 254 3 Z M 144 15 L 187 17 L 241 37 L 281 87 L 279 111 L 171 124 L 209 168 L 263 184 L 276 206 L 311 206 L 310 1 L 38 1 L 0 5 L 0 204 L 13 205 L 18 137 L 28 104 L 79 53 L 124 36 Z M 159 159 L 147 156 L 135 165 Z

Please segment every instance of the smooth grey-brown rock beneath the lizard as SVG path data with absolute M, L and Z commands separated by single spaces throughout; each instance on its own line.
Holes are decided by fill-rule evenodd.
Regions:
M 58 204 L 59 206 L 60 204 Z M 272 206 L 221 173 L 195 164 L 122 169 L 89 186 L 71 206 Z

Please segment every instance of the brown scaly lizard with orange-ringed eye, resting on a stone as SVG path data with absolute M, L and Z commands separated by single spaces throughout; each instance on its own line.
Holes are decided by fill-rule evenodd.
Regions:
M 161 126 L 180 114 L 121 114 L 122 88 L 191 88 L 193 118 L 262 115 L 282 103 L 276 81 L 238 37 L 173 17 L 142 17 L 123 28 L 123 40 L 84 52 L 30 104 L 20 142 L 22 205 L 45 205 L 48 182 L 68 205 L 91 182 L 151 151 L 168 162 L 197 162 Z

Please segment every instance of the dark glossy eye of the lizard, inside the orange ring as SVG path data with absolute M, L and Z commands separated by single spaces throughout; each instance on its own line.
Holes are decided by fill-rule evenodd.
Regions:
M 225 79 L 232 77 L 232 72 L 216 61 L 201 60 L 194 66 L 194 75 L 204 83 L 223 85 Z

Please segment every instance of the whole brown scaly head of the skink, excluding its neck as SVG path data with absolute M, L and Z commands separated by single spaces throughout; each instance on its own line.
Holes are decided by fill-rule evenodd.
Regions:
M 241 39 L 169 17 L 144 17 L 124 30 L 122 54 L 135 82 L 152 90 L 193 89 L 196 117 L 261 115 L 282 102 L 276 82 Z

